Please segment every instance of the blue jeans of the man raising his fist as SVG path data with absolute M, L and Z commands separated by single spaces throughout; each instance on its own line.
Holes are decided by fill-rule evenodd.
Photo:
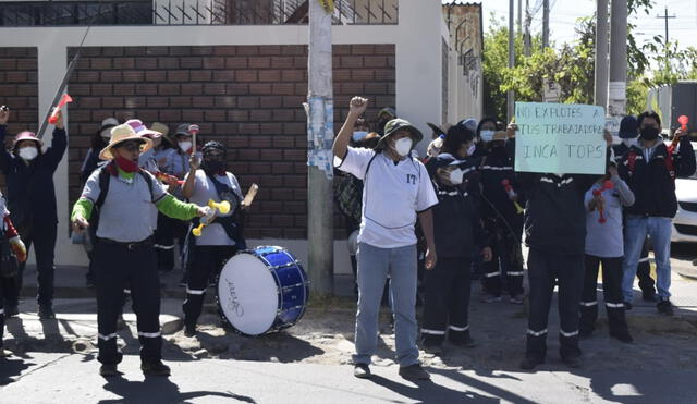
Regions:
M 378 315 L 382 289 L 390 274 L 394 314 L 396 362 L 401 367 L 418 363 L 416 346 L 416 245 L 379 248 L 358 244 L 358 311 L 354 364 L 370 364 L 378 346 Z

